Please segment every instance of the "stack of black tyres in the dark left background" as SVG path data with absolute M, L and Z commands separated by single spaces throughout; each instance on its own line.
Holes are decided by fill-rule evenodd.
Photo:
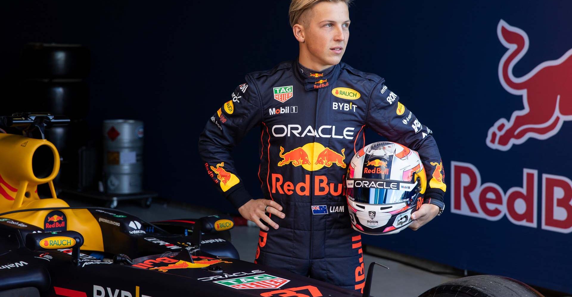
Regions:
M 85 120 L 89 110 L 89 68 L 89 50 L 79 44 L 29 43 L 22 51 L 22 100 L 17 100 L 13 109 L 50 112 L 71 120 L 68 126 L 46 131 L 46 139 L 54 143 L 62 158 L 60 173 L 54 180 L 58 188 L 81 189 L 89 180 L 80 156 L 89 141 Z

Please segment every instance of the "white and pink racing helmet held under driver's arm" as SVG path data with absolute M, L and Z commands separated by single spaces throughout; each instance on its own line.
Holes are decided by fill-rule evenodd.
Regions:
M 360 149 L 345 180 L 353 229 L 372 235 L 403 230 L 423 204 L 426 181 L 415 150 L 389 141 Z

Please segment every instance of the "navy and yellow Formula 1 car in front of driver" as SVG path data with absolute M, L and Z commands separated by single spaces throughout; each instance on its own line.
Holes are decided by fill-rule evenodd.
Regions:
M 145 222 L 116 209 L 75 208 L 55 196 L 54 145 L 37 135 L 65 120 L 0 117 L 30 137 L 0 133 L 0 297 L 362 296 L 328 283 L 240 261 L 224 215 Z M 51 198 L 39 198 L 47 183 Z M 363 296 L 370 296 L 372 263 Z M 365 275 L 364 275 L 365 277 Z M 477 286 L 482 284 L 482 286 Z M 542 296 L 499 276 L 470 276 L 426 296 Z M 377 294 L 376 294 L 377 295 Z

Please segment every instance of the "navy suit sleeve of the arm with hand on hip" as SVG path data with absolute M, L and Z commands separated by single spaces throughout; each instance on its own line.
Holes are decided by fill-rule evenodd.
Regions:
M 198 137 L 198 152 L 205 162 L 205 169 L 216 188 L 235 208 L 252 199 L 237 175 L 231 150 L 262 119 L 261 101 L 257 89 L 247 76 L 241 84 L 206 122 Z

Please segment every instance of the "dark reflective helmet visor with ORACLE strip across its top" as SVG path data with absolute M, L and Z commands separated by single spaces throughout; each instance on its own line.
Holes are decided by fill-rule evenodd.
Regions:
M 348 196 L 353 201 L 365 204 L 394 204 L 398 202 L 412 202 L 417 182 L 368 181 L 348 180 Z

